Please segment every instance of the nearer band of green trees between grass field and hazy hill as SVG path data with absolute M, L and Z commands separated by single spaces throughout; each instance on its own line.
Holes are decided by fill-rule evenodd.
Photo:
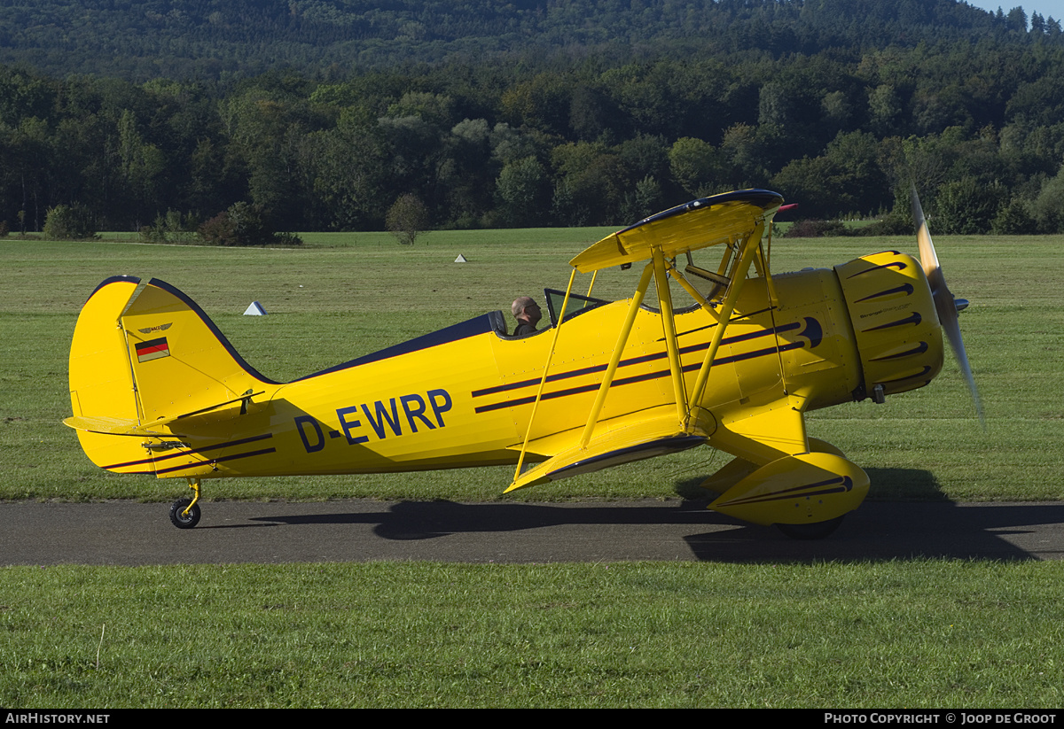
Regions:
M 883 24 L 921 29 L 952 12 L 994 32 L 972 40 L 957 21 L 934 41 L 805 48 L 807 36 L 842 43 L 887 11 L 864 0 L 710 5 L 764 20 L 728 27 L 760 29 L 743 52 L 680 54 L 691 39 L 678 31 L 680 46 L 653 55 L 230 80 L 0 66 L 0 226 L 40 231 L 64 205 L 87 210 L 97 230 L 165 236 L 243 205 L 281 231 L 381 230 L 411 197 L 434 227 L 624 225 L 742 187 L 776 189 L 803 217 L 867 217 L 908 207 L 915 184 L 937 232 L 1064 232 L 1055 20 L 903 2 Z M 805 50 L 765 50 L 772 44 Z

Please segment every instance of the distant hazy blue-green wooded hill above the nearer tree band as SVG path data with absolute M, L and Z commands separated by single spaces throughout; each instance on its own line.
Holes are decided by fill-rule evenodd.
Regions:
M 0 62 L 148 81 L 280 66 L 315 75 L 552 56 L 778 57 L 1000 39 L 1026 33 L 1021 16 L 934 0 L 0 0 Z M 1060 33 L 1051 19 L 1032 26 Z

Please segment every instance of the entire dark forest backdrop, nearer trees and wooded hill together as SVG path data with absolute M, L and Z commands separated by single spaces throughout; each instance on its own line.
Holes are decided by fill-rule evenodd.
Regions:
M 0 233 L 803 218 L 1064 232 L 1064 34 L 955 0 L 0 0 Z

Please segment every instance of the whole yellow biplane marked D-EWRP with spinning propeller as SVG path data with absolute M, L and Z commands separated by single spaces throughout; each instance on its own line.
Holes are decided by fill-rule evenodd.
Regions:
M 198 523 L 206 478 L 516 464 L 513 491 L 704 444 L 734 456 L 702 484 L 719 494 L 711 509 L 819 538 L 868 476 L 810 438 L 804 413 L 927 385 L 944 327 L 971 385 L 965 302 L 915 192 L 922 266 L 885 252 L 770 275 L 782 202 L 718 194 L 600 240 L 570 261 L 566 291 L 547 291 L 551 326 L 535 335 L 508 336 L 495 311 L 290 383 L 259 374 L 172 286 L 109 278 L 78 320 L 64 422 L 101 468 L 186 478 L 180 528 Z M 572 293 L 578 271 L 633 265 L 627 301 Z

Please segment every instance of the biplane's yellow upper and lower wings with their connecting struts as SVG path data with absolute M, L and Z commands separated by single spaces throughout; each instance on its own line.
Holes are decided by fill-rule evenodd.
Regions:
M 704 395 L 709 373 L 724 340 L 725 330 L 734 316 L 735 306 L 738 303 L 750 266 L 757 264 L 759 271 L 767 276 L 766 261 L 759 255 L 761 237 L 767 222 L 771 220 L 782 202 L 779 194 L 768 190 L 737 190 L 696 200 L 641 220 L 624 231 L 618 231 L 569 261 L 573 268 L 572 275 L 577 271 L 592 273 L 618 265 L 627 268 L 635 261 L 645 261 L 645 266 L 635 293 L 629 302 L 625 322 L 617 334 L 617 342 L 598 385 L 595 402 L 587 413 L 587 420 L 580 438 L 570 441 L 568 433 L 576 434 L 568 431 L 564 438 L 552 441 L 548 454 L 553 451 L 553 455 L 522 475 L 521 468 L 531 440 L 532 423 L 543 397 L 548 376 L 547 368 L 549 368 L 550 358 L 553 357 L 558 343 L 559 332 L 555 329 L 547 364 L 533 401 L 514 481 L 506 489 L 508 493 L 533 484 L 556 480 L 617 463 L 695 447 L 710 438 L 715 428 L 715 420 L 709 410 L 699 407 L 698 404 Z M 727 282 L 728 288 L 725 290 L 721 302 L 711 303 L 706 301 L 676 268 L 675 258 L 678 255 L 710 245 L 726 245 L 729 249 L 720 262 L 720 271 L 714 278 L 720 285 Z M 741 250 L 736 249 L 736 245 Z M 730 274 L 725 273 L 728 268 L 731 269 Z M 684 377 L 678 341 L 679 335 L 676 330 L 677 324 L 672 312 L 669 275 L 672 275 L 716 321 L 712 341 L 694 383 L 695 387 L 689 391 Z M 661 306 L 662 338 L 665 340 L 665 354 L 669 362 L 675 402 L 670 404 L 665 401 L 660 405 L 638 411 L 614 414 L 608 424 L 602 425 L 602 431 L 596 436 L 606 395 L 613 385 L 628 340 L 634 330 L 638 310 L 650 286 L 651 276 L 655 279 L 658 301 Z M 572 283 L 573 278 L 570 276 L 565 301 L 562 304 L 563 312 L 568 305 Z M 592 287 L 594 287 L 594 278 L 592 286 L 588 287 L 588 294 Z M 716 293 L 712 295 L 715 296 Z M 561 321 L 558 322 L 559 329 L 561 323 Z M 660 355 L 655 354 L 654 356 Z M 661 375 L 664 373 L 654 373 L 654 376 Z M 563 434 L 555 435 L 562 436 Z

